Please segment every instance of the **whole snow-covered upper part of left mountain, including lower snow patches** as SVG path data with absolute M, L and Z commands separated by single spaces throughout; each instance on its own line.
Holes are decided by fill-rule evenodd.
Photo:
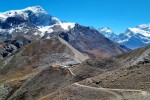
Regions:
M 49 15 L 40 6 L 27 7 L 21 10 L 10 10 L 0 13 L 0 34 L 2 39 L 9 34 L 34 35 L 35 37 L 48 38 L 52 32 L 66 32 L 74 28 L 75 23 L 62 22 Z

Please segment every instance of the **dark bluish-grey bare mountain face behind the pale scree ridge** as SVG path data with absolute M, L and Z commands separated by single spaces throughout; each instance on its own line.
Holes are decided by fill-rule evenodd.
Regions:
M 70 31 L 61 33 L 60 37 L 77 50 L 92 57 L 107 58 L 124 52 L 123 49 L 105 38 L 97 30 L 78 24 Z

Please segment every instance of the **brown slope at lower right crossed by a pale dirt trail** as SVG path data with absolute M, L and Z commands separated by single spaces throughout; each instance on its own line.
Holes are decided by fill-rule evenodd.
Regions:
M 99 75 L 75 82 L 72 85 L 41 97 L 40 100 L 149 100 L 149 49 L 150 47 L 141 48 L 115 58 L 107 59 L 105 62 L 103 61 L 101 64 L 98 64 L 103 69 L 101 72 L 98 71 Z M 135 59 L 137 56 L 141 60 Z M 129 59 L 128 61 L 134 59 L 139 63 L 132 63 L 133 65 L 130 65 L 131 62 L 125 62 L 127 59 Z M 97 62 L 95 59 L 92 60 L 93 63 L 95 61 Z M 126 63 L 128 64 L 125 65 Z M 89 63 L 88 65 L 95 67 L 95 64 Z M 87 66 L 88 68 L 89 66 Z M 76 67 L 72 68 L 72 71 L 74 75 L 78 76 L 79 73 L 73 69 L 76 69 Z M 91 71 L 91 73 L 97 72 Z

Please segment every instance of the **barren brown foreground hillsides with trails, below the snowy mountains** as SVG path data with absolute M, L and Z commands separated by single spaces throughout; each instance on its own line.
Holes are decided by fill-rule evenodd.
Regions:
M 72 63 L 76 61 L 73 55 L 59 39 L 27 45 L 0 62 L 1 99 L 150 99 L 150 47 L 81 64 Z M 70 67 L 62 65 L 68 62 Z

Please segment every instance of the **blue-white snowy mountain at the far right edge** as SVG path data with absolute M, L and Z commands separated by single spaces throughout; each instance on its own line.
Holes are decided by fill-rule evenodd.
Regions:
M 115 41 L 131 49 L 150 45 L 150 24 L 141 24 L 128 28 Z

